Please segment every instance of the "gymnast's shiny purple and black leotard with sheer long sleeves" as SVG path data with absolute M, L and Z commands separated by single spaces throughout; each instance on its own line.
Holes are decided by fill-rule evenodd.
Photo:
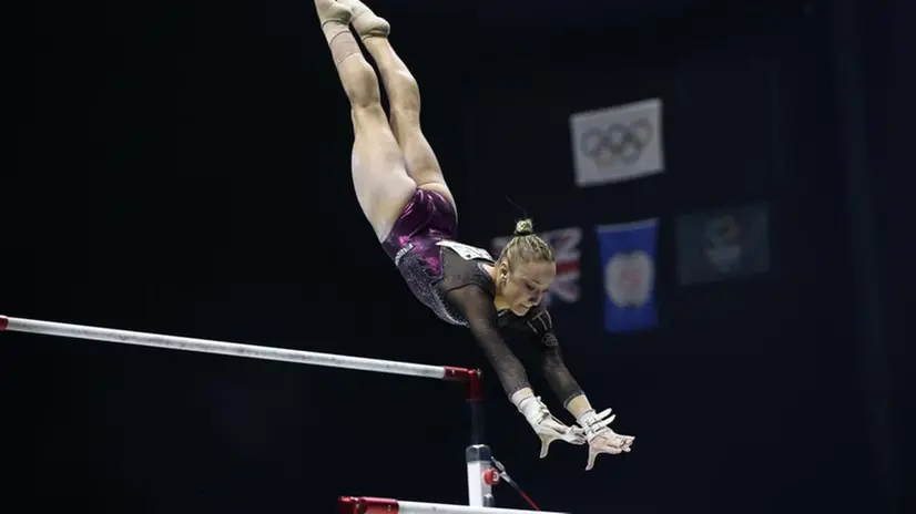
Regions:
M 496 370 L 506 393 L 530 387 L 506 337 L 521 336 L 539 350 L 544 378 L 564 402 L 582 393 L 562 360 L 550 313 L 537 306 L 525 316 L 497 312 L 496 285 L 484 268 L 495 265 L 481 248 L 455 240 L 458 219 L 442 195 L 417 188 L 383 241 L 407 286 L 442 320 L 468 327 Z

